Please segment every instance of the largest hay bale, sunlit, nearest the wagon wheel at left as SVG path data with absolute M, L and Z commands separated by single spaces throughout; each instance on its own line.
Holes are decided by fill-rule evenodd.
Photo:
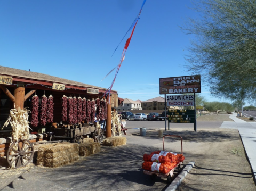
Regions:
M 79 146 L 77 143 L 45 144 L 38 148 L 37 165 L 59 167 L 78 160 Z

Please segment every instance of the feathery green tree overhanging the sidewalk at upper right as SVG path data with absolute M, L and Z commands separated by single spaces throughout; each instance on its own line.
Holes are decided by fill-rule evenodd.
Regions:
M 256 1 L 198 0 L 184 27 L 193 35 L 188 71 L 201 74 L 211 94 L 221 98 L 256 100 Z

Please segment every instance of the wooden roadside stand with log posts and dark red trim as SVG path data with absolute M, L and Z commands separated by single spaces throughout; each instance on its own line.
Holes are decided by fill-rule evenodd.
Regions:
M 47 127 L 43 127 L 43 125 L 39 123 L 37 127 L 33 127 L 33 131 L 43 133 L 40 131 L 40 129 L 59 128 L 60 124 L 63 124 L 62 128 L 64 126 L 66 127 L 67 123 L 62 123 L 62 97 L 64 95 L 73 98 L 82 97 L 86 100 L 96 100 L 97 98 L 102 99 L 106 90 L 106 88 L 49 76 L 43 73 L 0 66 L 0 139 L 4 137 L 7 138 L 8 136 L 10 137 L 10 132 L 8 132 L 8 134 L 7 132 L 5 134 L 3 132 L 9 131 L 10 129 L 2 130 L 3 124 L 10 114 L 10 110 L 14 107 L 20 107 L 20 109 L 28 107 L 28 109 L 31 111 L 32 98 L 35 94 L 39 97 L 39 103 L 41 103 L 41 98 L 43 95 L 46 97 L 52 95 L 53 97 L 53 122 L 47 122 Z M 112 136 L 111 108 L 118 107 L 117 91 L 111 90 L 109 96 L 110 97 L 106 99 L 107 111 L 105 111 L 107 112 L 106 137 Z M 108 103 L 108 100 L 110 100 L 110 103 Z M 86 121 L 83 121 L 83 123 L 86 123 Z M 72 125 L 74 126 L 74 124 Z M 69 124 L 67 126 L 69 126 Z M 36 141 L 39 140 L 42 139 L 36 139 Z M 6 153 L 6 148 L 9 145 L 7 142 L 6 145 L 4 144 L 5 143 L 1 143 L 0 141 L 0 156 L 2 156 L 3 153 Z

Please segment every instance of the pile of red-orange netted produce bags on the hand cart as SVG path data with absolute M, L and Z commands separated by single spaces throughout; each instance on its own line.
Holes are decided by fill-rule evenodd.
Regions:
M 185 157 L 182 154 L 154 151 L 151 154 L 143 155 L 142 169 L 166 174 L 184 159 Z

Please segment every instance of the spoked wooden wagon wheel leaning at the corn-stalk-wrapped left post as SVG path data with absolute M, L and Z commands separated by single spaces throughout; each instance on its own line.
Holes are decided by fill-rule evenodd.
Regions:
M 15 145 L 18 146 L 18 148 L 15 149 Z M 7 162 L 10 164 L 10 167 L 13 167 L 13 164 L 15 164 L 15 168 L 26 166 L 31 162 L 34 155 L 34 146 L 33 144 L 27 140 L 18 140 L 17 142 L 13 142 L 8 151 L 7 151 Z

